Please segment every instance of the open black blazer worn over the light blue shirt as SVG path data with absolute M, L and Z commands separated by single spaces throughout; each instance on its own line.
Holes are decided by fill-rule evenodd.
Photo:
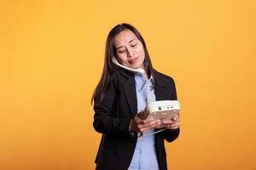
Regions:
M 155 71 L 154 93 L 156 100 L 177 99 L 172 77 Z M 131 135 L 129 125 L 137 114 L 137 94 L 134 74 L 118 71 L 110 83 L 100 105 L 94 106 L 93 126 L 102 133 L 101 144 L 96 156 L 96 169 L 127 170 L 137 144 L 137 134 Z M 166 170 L 166 149 L 164 139 L 177 139 L 179 128 L 167 129 L 155 134 L 155 148 L 160 170 Z

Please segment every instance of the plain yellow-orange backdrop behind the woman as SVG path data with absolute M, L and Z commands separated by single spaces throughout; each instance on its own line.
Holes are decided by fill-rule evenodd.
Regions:
M 176 81 L 181 134 L 166 144 L 168 167 L 255 169 L 255 10 L 253 0 L 2 0 L 0 169 L 95 168 L 90 96 L 122 22 Z

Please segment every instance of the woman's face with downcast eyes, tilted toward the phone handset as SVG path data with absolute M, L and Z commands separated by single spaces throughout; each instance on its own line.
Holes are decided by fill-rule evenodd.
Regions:
M 113 39 L 116 54 L 122 65 L 133 69 L 143 68 L 145 52 L 143 43 L 130 30 L 119 32 Z

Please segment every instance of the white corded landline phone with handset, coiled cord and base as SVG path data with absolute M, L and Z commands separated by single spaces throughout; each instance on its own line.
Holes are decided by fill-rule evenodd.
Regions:
M 113 63 L 116 65 L 119 65 L 120 67 L 124 68 L 127 71 L 142 74 L 145 81 L 147 82 L 148 77 L 146 75 L 146 72 L 142 68 L 132 69 L 125 65 L 121 65 L 119 61 L 115 59 L 115 57 L 113 57 Z M 180 105 L 178 100 L 159 100 L 159 101 L 150 102 L 150 95 L 147 90 L 147 109 L 149 111 L 148 116 L 151 116 L 154 119 L 172 120 L 175 116 L 179 114 Z M 166 130 L 166 128 L 160 129 L 154 133 L 160 133 L 163 130 Z M 151 135 L 154 133 L 150 133 L 148 135 Z M 143 139 L 144 137 L 145 136 L 139 136 L 138 140 Z

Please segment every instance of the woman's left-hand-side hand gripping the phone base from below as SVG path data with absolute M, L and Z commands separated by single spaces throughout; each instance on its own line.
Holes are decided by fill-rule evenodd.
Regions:
M 150 129 L 160 126 L 161 121 L 148 117 L 148 111 L 140 111 L 134 119 L 131 120 L 130 130 L 138 133 L 147 133 Z

